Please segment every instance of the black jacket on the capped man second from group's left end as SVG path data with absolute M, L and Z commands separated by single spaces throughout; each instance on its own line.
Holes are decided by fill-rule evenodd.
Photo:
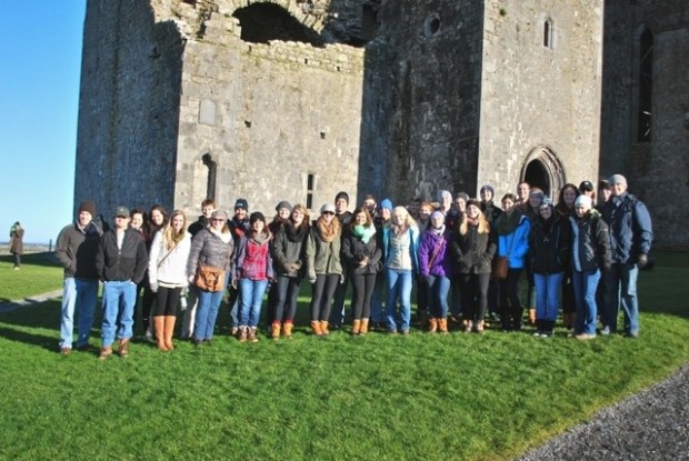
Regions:
M 127 281 L 140 283 L 148 268 L 146 241 L 133 229 L 124 231 L 122 249 L 117 245 L 117 230 L 112 229 L 100 238 L 96 253 L 96 270 L 102 281 Z

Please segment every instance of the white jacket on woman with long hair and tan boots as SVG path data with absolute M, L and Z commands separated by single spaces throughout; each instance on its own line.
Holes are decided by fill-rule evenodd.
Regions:
M 184 233 L 184 238 L 168 250 L 164 242 L 164 230 L 159 230 L 153 237 L 151 251 L 149 253 L 148 279 L 154 287 L 162 284 L 166 287 L 186 287 L 187 281 L 187 260 L 191 250 L 191 234 Z

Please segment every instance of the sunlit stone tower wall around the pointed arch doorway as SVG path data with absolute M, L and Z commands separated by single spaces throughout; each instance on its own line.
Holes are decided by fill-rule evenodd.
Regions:
M 478 186 L 513 193 L 539 149 L 559 161 L 559 182 L 596 180 L 602 1 L 491 0 L 485 9 Z

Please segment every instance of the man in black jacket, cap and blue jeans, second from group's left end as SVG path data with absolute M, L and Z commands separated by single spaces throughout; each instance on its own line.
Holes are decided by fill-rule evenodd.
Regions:
M 116 337 L 120 341 L 120 357 L 129 355 L 137 284 L 148 267 L 143 237 L 129 227 L 129 210 L 118 207 L 114 228 L 103 233 L 96 253 L 96 269 L 103 282 L 101 360 L 112 355 Z

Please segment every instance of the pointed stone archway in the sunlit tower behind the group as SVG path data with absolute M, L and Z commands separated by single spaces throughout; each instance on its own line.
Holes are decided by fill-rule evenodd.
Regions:
M 565 167 L 552 149 L 539 146 L 527 156 L 519 179 L 542 189 L 546 197 L 555 199 L 566 183 L 566 176 Z

